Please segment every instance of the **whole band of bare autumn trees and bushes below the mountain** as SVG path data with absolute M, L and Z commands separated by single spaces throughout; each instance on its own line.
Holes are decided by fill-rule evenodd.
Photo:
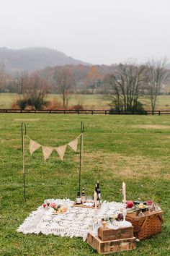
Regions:
M 17 93 L 17 104 L 24 109 L 40 109 L 47 103 L 48 93 L 58 93 L 63 108 L 68 107 L 71 93 L 103 93 L 111 101 L 112 109 L 142 110 L 140 97 L 148 95 L 151 110 L 156 108 L 157 96 L 170 80 L 167 59 L 150 59 L 145 64 L 127 61 L 111 66 L 47 67 L 31 74 L 25 71 L 9 73 L 0 65 L 0 90 Z

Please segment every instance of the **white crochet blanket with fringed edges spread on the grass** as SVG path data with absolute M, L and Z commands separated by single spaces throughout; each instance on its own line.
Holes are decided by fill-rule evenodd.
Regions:
M 43 206 L 37 208 L 36 211 L 30 213 L 30 216 L 24 220 L 17 231 L 24 234 L 54 234 L 60 236 L 81 236 L 86 239 L 89 226 L 94 218 L 103 218 L 104 216 L 112 216 L 118 213 L 123 207 L 120 202 L 102 203 L 102 207 L 98 210 L 90 208 L 72 207 L 73 201 L 69 199 L 49 199 L 49 202 L 67 205 L 66 213 L 53 215 L 50 211 L 46 211 Z

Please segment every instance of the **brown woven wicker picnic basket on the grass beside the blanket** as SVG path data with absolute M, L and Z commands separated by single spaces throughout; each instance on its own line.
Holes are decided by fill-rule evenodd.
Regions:
M 133 233 L 135 238 L 140 240 L 146 239 L 153 234 L 161 233 L 162 210 L 154 213 L 144 213 L 145 216 L 134 216 L 127 214 L 126 220 L 130 221 L 133 225 Z

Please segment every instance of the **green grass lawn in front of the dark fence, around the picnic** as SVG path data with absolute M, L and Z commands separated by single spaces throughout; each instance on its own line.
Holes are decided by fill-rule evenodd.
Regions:
M 27 135 L 42 145 L 63 145 L 79 135 L 84 121 L 82 187 L 91 195 L 99 179 L 104 200 L 154 200 L 164 210 L 162 233 L 138 242 L 117 255 L 170 255 L 170 119 L 169 116 L 88 116 L 0 114 L 0 255 L 98 255 L 81 238 L 24 235 L 17 228 L 47 198 L 74 200 L 79 154 L 66 150 L 64 161 L 52 153 L 45 162 L 41 150 L 32 156 L 26 146 L 27 202 L 22 196 L 21 123 Z

